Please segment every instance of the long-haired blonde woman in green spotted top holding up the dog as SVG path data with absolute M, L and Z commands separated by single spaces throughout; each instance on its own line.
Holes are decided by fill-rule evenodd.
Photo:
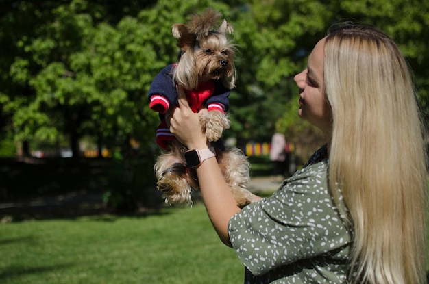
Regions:
M 240 210 L 216 159 L 197 167 L 221 240 L 246 283 L 426 283 L 426 163 L 410 73 L 377 29 L 343 25 L 295 76 L 299 111 L 326 145 L 271 198 Z M 170 118 L 188 149 L 206 149 L 182 90 Z

